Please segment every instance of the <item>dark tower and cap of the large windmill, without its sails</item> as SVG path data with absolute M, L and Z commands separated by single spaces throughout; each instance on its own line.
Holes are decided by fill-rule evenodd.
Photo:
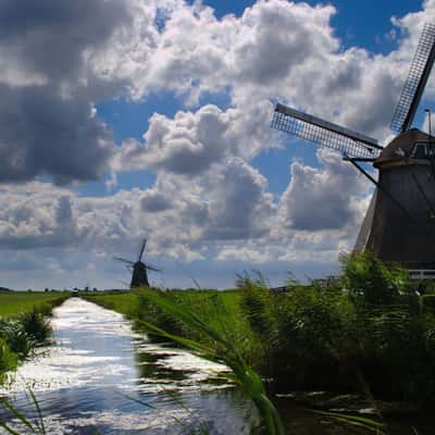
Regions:
M 427 156 L 432 142 L 425 133 L 407 130 L 373 163 L 382 189 L 365 248 L 410 270 L 435 270 L 435 171 Z M 393 198 L 400 199 L 403 209 Z

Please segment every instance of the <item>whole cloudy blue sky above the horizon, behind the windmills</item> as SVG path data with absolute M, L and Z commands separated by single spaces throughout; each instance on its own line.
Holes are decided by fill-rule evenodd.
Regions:
M 126 287 L 145 237 L 162 287 L 337 273 L 372 186 L 273 107 L 386 145 L 426 22 L 435 0 L 0 2 L 0 286 Z M 415 127 L 434 101 L 432 77 Z

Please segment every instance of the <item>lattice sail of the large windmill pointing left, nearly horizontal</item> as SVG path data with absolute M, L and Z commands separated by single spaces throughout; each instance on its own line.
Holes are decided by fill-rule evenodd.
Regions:
M 383 149 L 375 139 L 300 112 L 276 104 L 272 127 L 331 148 L 350 159 L 376 159 Z

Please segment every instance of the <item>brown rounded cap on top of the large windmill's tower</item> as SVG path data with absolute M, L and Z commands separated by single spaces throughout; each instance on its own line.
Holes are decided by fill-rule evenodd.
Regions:
M 396 136 L 381 152 L 374 161 L 375 167 L 384 166 L 387 163 L 403 162 L 409 159 L 417 142 L 433 142 L 435 137 L 423 133 L 418 128 L 408 129 Z M 417 163 L 418 161 L 414 161 Z

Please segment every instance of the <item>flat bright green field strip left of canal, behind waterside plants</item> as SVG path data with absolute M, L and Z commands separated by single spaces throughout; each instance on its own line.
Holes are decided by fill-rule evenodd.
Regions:
M 0 291 L 0 318 L 11 318 L 44 304 L 58 304 L 62 291 Z

